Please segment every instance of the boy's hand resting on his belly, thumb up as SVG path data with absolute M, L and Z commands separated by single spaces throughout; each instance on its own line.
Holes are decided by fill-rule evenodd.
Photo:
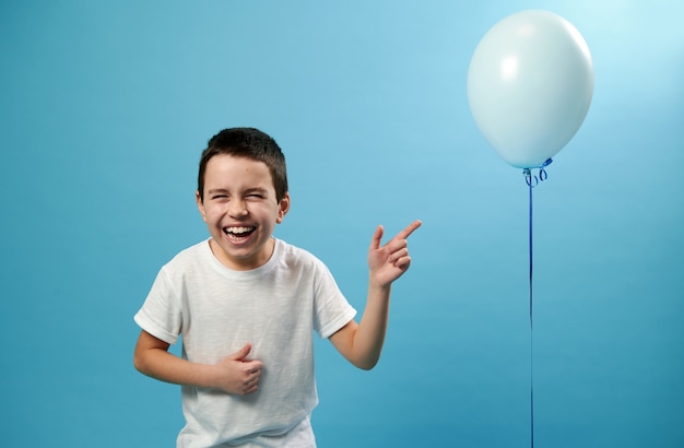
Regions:
M 247 342 L 237 352 L 226 356 L 216 364 L 219 379 L 217 387 L 228 393 L 245 396 L 259 389 L 261 378 L 260 361 L 248 359 L 251 343 Z

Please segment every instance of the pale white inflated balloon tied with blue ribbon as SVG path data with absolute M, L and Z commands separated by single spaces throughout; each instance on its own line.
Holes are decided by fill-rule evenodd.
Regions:
M 507 163 L 539 167 L 581 126 L 593 95 L 593 64 L 577 28 L 547 11 L 496 23 L 468 71 L 468 101 L 487 142 Z

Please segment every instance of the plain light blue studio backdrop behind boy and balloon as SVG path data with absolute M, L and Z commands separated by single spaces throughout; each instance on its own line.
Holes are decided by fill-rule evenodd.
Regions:
M 684 2 L 3 1 L 0 420 L 8 447 L 169 447 L 179 390 L 133 314 L 207 237 L 199 152 L 255 126 L 287 156 L 276 235 L 363 309 L 375 226 L 413 219 L 384 357 L 317 344 L 321 447 L 529 446 L 527 186 L 470 115 L 472 52 L 546 9 L 595 70 L 534 190 L 539 447 L 684 446 Z

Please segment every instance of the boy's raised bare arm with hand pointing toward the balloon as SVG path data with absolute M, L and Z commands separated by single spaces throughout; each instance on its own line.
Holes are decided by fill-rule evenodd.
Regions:
M 359 323 L 351 320 L 330 337 L 334 347 L 358 368 L 372 369 L 380 358 L 387 332 L 391 284 L 411 264 L 406 238 L 421 224 L 414 221 L 385 246 L 380 246 L 382 226 L 375 231 L 368 250 L 368 298 L 364 315 Z

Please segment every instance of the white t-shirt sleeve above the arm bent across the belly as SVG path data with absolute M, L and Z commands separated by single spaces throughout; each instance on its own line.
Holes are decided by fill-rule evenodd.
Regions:
M 162 268 L 133 320 L 148 333 L 173 345 L 182 325 L 181 300 L 168 272 Z

